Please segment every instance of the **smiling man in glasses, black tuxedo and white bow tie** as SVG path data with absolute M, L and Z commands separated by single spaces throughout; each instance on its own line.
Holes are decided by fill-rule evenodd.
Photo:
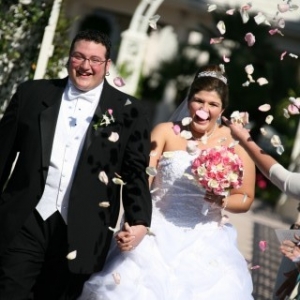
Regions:
M 110 48 L 79 32 L 69 76 L 21 84 L 0 122 L 1 299 L 76 299 L 103 267 L 120 198 L 137 236 L 150 226 L 150 126 L 105 80 Z

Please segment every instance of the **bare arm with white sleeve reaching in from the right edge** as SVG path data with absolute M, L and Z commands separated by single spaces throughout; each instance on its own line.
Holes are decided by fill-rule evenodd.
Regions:
M 251 138 L 249 130 L 241 124 L 230 122 L 222 117 L 230 128 L 233 137 L 240 142 L 249 153 L 258 169 L 287 195 L 300 198 L 300 173 L 293 173 L 280 165 L 271 155 L 263 151 Z

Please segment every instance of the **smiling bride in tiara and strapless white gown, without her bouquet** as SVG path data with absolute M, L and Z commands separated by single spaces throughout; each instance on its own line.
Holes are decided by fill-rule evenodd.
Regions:
M 127 223 L 106 265 L 86 283 L 80 300 L 253 299 L 251 275 L 225 211 L 246 212 L 253 201 L 255 166 L 218 119 L 227 106 L 227 78 L 217 65 L 198 71 L 185 122 L 157 125 L 151 134 L 152 225 L 140 244 Z M 199 153 L 233 148 L 243 178 L 228 195 L 204 189 L 191 168 Z M 191 151 L 192 149 L 192 151 Z M 154 172 L 154 173 L 153 173 Z M 153 181 L 153 182 L 152 182 Z M 120 251 L 121 250 L 121 251 Z

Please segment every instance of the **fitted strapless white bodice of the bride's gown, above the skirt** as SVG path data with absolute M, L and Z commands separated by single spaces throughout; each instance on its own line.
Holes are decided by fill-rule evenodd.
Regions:
M 193 178 L 191 164 L 196 155 L 186 151 L 167 152 L 159 160 L 158 175 L 152 185 L 153 214 L 180 227 L 195 228 L 197 224 L 219 222 L 221 209 L 209 205 L 207 215 L 202 213 L 208 202 L 205 190 Z

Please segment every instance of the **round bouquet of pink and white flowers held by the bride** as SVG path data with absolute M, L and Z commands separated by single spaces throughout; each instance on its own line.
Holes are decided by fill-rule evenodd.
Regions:
M 226 196 L 241 187 L 243 163 L 233 147 L 217 146 L 201 151 L 192 162 L 192 173 L 205 190 Z M 204 210 L 207 213 L 208 206 Z

